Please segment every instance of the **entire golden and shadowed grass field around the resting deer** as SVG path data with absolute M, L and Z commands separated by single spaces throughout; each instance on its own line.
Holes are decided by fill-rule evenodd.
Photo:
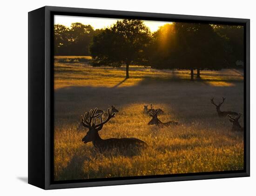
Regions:
M 189 71 L 134 65 L 130 67 L 131 78 L 124 80 L 124 67 L 91 67 L 85 61 L 57 58 L 55 180 L 243 169 L 243 133 L 232 132 L 229 120 L 219 118 L 210 103 L 211 97 L 217 102 L 224 96 L 223 111 L 243 112 L 241 70 L 201 71 L 201 79 L 190 82 Z M 175 120 L 180 125 L 148 126 L 150 117 L 142 111 L 143 105 L 150 103 L 165 111 L 160 120 Z M 80 115 L 94 107 L 106 111 L 111 105 L 120 112 L 103 126 L 101 138 L 141 139 L 148 148 L 140 154 L 101 154 L 93 151 L 91 143 L 81 141 L 88 130 L 77 129 Z M 240 124 L 243 126 L 243 116 Z

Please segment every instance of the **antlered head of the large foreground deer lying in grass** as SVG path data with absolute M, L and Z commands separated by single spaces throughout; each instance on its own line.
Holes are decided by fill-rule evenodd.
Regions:
M 115 117 L 115 113 L 113 113 L 112 110 L 110 110 L 108 108 L 108 118 L 102 122 L 102 114 L 96 114 L 95 115 L 96 111 L 97 111 L 97 108 L 95 108 L 94 110 L 92 110 L 92 109 L 90 110 L 88 120 L 86 119 L 87 112 L 84 114 L 84 116 L 81 115 L 82 125 L 89 129 L 89 131 L 86 133 L 86 135 L 82 139 L 82 142 L 84 142 L 85 144 L 90 142 L 90 141 L 94 141 L 96 134 L 99 131 L 101 131 L 103 125 L 105 123 L 107 123 L 111 118 Z M 99 117 L 99 116 L 101 116 L 101 123 L 96 124 L 96 118 Z M 94 119 L 94 122 L 92 123 L 93 119 Z

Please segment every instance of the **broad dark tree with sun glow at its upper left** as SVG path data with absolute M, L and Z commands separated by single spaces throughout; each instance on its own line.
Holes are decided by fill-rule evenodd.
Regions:
M 220 36 L 209 24 L 179 23 L 164 25 L 153 35 L 150 62 L 157 69 L 219 70 L 225 64 Z

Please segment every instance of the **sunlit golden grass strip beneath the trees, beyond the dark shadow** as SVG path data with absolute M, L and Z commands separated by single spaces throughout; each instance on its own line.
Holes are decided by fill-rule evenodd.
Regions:
M 68 58 L 67 58 L 68 59 Z M 86 63 L 55 62 L 54 89 L 67 86 L 128 87 L 155 81 L 189 81 L 188 70 L 154 70 L 149 67 L 130 66 L 131 78 L 124 80 L 125 67 L 92 67 Z M 201 79 L 196 80 L 212 86 L 233 86 L 233 82 L 243 82 L 243 73 L 234 70 L 201 71 Z

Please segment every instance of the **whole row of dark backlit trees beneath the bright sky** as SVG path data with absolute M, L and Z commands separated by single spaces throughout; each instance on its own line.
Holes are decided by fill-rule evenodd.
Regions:
M 119 20 L 109 28 L 54 25 L 54 54 L 92 56 L 93 66 L 149 65 L 155 69 L 220 70 L 243 61 L 243 27 L 174 22 L 152 33 L 143 21 Z

